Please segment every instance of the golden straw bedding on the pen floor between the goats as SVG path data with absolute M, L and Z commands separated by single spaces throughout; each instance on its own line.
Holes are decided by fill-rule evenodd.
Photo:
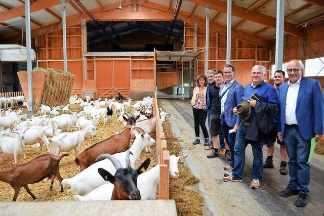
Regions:
M 83 107 L 79 105 L 71 105 L 70 110 L 79 112 L 83 110 Z M 96 137 L 91 139 L 87 135 L 85 137 L 85 141 L 82 143 L 81 151 L 84 151 L 86 148 L 92 146 L 97 142 L 109 138 L 110 136 L 114 135 L 117 131 L 119 131 L 119 129 L 122 128 L 123 126 L 124 126 L 123 123 L 118 122 L 116 117 L 112 117 L 111 122 L 105 125 L 103 124 L 103 121 L 101 119 L 100 124 L 97 127 Z M 145 151 L 142 152 L 141 157 L 139 158 L 137 164 L 140 164 L 148 157 L 151 158 L 151 164 L 149 167 L 152 167 L 152 165 L 156 164 L 155 146 L 151 147 L 151 149 L 152 149 L 152 153 L 146 153 Z M 48 152 L 46 147 L 34 149 L 26 146 L 25 153 L 26 153 L 26 159 L 24 159 L 24 162 L 27 162 L 39 155 L 47 154 Z M 63 179 L 67 179 L 75 176 L 80 170 L 79 166 L 77 166 L 74 162 L 74 152 L 71 151 L 69 153 L 70 155 L 67 157 L 63 157 L 60 162 L 60 174 Z M 61 154 L 62 153 L 60 153 L 60 155 Z M 19 156 L 18 164 L 20 163 L 21 163 L 21 157 Z M 12 168 L 11 161 L 9 160 L 0 161 L 0 170 L 10 169 L 10 168 Z M 50 191 L 50 185 L 51 185 L 51 181 L 47 181 L 47 179 L 45 179 L 39 183 L 30 184 L 28 186 L 30 191 L 37 197 L 38 201 L 74 200 L 72 191 L 69 186 L 66 186 L 64 188 L 64 192 L 60 192 L 60 184 L 57 179 L 55 179 L 54 181 L 52 191 Z M 12 198 L 14 197 L 14 189 L 5 182 L 0 182 L 0 188 L 1 188 L 0 201 L 12 201 Z M 31 200 L 32 200 L 31 196 L 26 192 L 24 188 L 21 188 L 17 201 L 31 201 Z

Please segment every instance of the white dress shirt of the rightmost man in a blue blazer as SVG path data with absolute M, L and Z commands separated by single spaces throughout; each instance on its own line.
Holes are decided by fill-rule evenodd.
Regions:
M 291 83 L 290 80 L 287 82 L 288 92 L 286 97 L 285 123 L 289 125 L 298 124 L 296 118 L 296 105 L 301 78 L 302 77 L 300 77 L 295 83 Z

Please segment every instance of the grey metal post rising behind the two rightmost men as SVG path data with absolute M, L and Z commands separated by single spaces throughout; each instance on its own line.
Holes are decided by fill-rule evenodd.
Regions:
M 277 0 L 277 24 L 275 29 L 275 70 L 282 70 L 284 53 L 285 1 Z

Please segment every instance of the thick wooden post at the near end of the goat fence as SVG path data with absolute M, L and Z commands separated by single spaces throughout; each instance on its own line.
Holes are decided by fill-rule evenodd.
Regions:
M 163 163 L 160 164 L 160 182 L 158 187 L 158 198 L 169 199 L 169 162 L 170 152 L 163 152 Z

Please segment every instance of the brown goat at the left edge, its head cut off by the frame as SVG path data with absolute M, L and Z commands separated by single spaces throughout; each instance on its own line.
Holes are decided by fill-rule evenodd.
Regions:
M 32 199 L 36 199 L 30 192 L 28 184 L 41 182 L 48 177 L 52 180 L 50 186 L 50 190 L 52 190 L 55 177 L 58 178 L 60 183 L 63 180 L 59 170 L 60 160 L 62 157 L 68 155 L 69 154 L 55 156 L 53 154 L 44 154 L 38 156 L 27 163 L 15 166 L 9 170 L 0 171 L 0 181 L 9 183 L 15 190 L 12 201 L 16 201 L 21 187 L 26 189 Z M 62 184 L 61 192 L 63 192 Z

